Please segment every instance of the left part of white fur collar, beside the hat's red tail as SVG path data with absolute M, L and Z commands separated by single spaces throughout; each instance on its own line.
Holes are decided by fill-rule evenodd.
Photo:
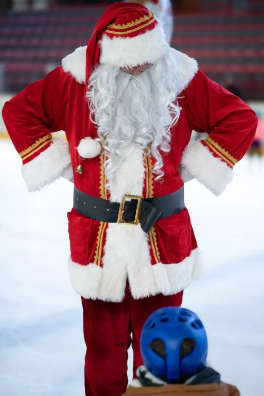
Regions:
M 69 72 L 80 84 L 85 82 L 86 48 L 87 46 L 76 48 L 61 62 L 65 73 Z

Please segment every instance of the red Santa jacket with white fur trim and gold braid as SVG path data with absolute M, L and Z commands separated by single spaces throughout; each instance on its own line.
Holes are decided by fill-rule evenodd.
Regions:
M 72 163 L 76 147 L 91 136 L 85 86 L 85 47 L 62 61 L 45 79 L 28 86 L 5 103 L 2 115 L 11 140 L 22 158 L 28 190 L 56 180 Z M 171 129 L 171 151 L 164 155 L 163 183 L 153 177 L 153 158 L 134 147 L 117 171 L 111 193 L 106 191 L 105 156 L 83 161 L 84 173 L 74 184 L 84 193 L 120 202 L 126 194 L 144 198 L 170 194 L 183 186 L 185 171 L 219 195 L 232 179 L 232 168 L 251 146 L 257 117 L 242 100 L 198 71 L 197 62 L 173 50 L 181 78 L 175 87 L 182 108 Z M 64 130 L 67 141 L 53 139 Z M 191 132 L 207 132 L 192 141 Z M 107 224 L 68 213 L 73 288 L 81 296 L 121 301 L 127 278 L 135 298 L 175 294 L 201 271 L 197 243 L 188 210 L 159 220 L 145 234 L 140 225 Z

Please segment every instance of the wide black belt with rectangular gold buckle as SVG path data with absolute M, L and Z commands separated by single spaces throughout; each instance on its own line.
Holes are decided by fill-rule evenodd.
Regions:
M 157 220 L 180 212 L 184 205 L 184 188 L 157 198 L 125 195 L 121 203 L 93 197 L 74 188 L 73 208 L 83 216 L 105 223 L 141 224 L 150 232 Z

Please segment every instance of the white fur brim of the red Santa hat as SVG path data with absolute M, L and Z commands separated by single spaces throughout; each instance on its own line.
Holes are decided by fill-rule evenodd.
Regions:
M 110 39 L 104 34 L 101 41 L 100 63 L 118 67 L 154 63 L 165 55 L 168 48 L 163 28 L 158 22 L 154 29 L 131 38 Z

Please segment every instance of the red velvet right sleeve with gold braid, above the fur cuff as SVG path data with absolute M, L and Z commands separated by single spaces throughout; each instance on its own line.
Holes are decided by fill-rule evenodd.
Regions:
M 187 122 L 214 157 L 233 167 L 250 148 L 258 124 L 255 112 L 241 99 L 198 71 L 185 90 Z

